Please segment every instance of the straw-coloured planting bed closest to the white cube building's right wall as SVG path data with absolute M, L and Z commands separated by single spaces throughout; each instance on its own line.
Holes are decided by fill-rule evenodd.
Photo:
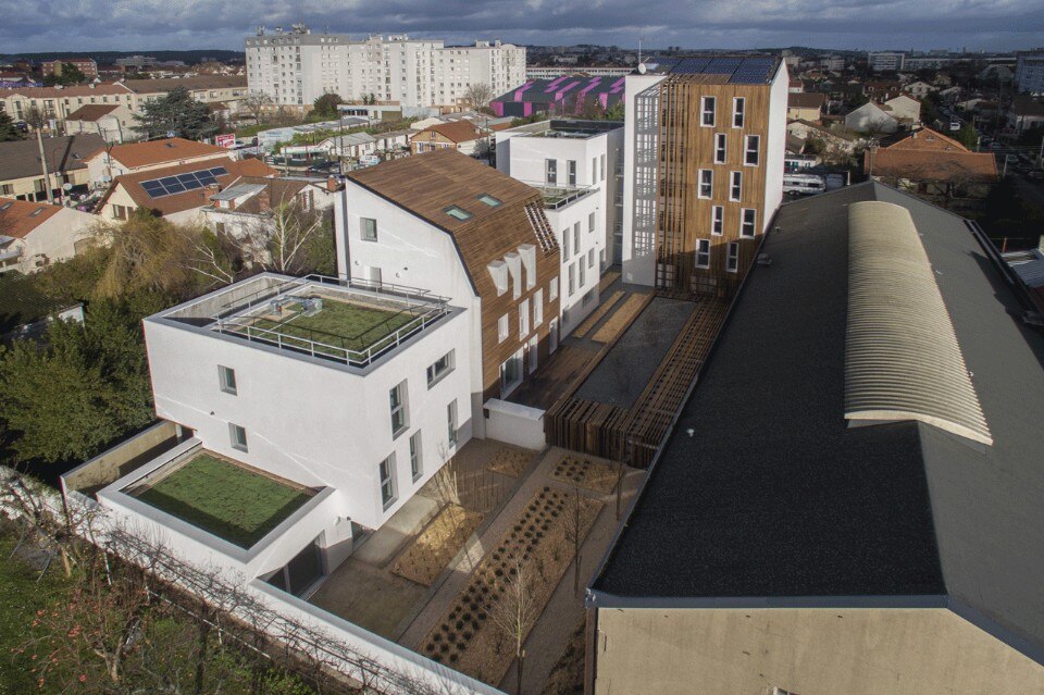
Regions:
M 471 537 L 484 514 L 447 505 L 391 564 L 391 572 L 431 586 Z

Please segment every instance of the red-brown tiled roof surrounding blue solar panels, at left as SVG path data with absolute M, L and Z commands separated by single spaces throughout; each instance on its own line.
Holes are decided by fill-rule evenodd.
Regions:
M 139 208 L 156 210 L 160 214 L 164 215 L 184 212 L 185 210 L 192 210 L 195 208 L 202 208 L 203 206 L 210 203 L 210 195 L 213 194 L 213 189 L 197 188 L 196 190 L 186 190 L 172 196 L 152 198 L 148 193 L 146 193 L 145 188 L 141 187 L 141 183 L 156 178 L 163 178 L 165 176 L 188 174 L 201 169 L 213 169 L 216 166 L 223 166 L 228 171 L 227 174 L 216 177 L 217 185 L 222 188 L 233 184 L 244 176 L 272 176 L 277 173 L 276 170 L 272 169 L 261 160 L 244 159 L 237 162 L 229 157 L 225 157 L 224 159 L 209 159 L 201 162 L 189 162 L 186 164 L 178 164 L 176 166 L 164 166 L 162 169 L 124 174 L 123 176 L 116 176 L 115 181 L 112 182 L 112 185 L 109 187 L 109 190 L 105 191 L 104 197 L 98 202 L 97 211 L 101 211 L 117 187 L 122 187 L 125 191 L 127 191 L 127 195 L 130 196 L 130 198 Z

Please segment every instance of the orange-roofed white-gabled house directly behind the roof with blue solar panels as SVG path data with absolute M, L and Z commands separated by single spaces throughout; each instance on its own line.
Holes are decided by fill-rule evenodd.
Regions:
M 228 149 L 181 137 L 146 142 L 127 142 L 103 148 L 87 164 L 90 179 L 99 188 L 124 174 L 134 174 L 166 166 L 192 164 L 228 157 Z

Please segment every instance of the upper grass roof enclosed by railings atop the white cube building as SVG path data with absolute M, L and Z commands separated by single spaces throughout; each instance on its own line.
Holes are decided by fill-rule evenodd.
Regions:
M 388 311 L 331 299 L 323 300 L 318 314 L 306 317 L 296 313 L 298 306 L 291 305 L 288 308 L 291 313 L 283 321 L 259 319 L 253 325 L 278 331 L 284 336 L 362 351 L 378 345 L 414 318 L 409 311 Z M 300 347 L 307 348 L 307 345 L 302 342 Z

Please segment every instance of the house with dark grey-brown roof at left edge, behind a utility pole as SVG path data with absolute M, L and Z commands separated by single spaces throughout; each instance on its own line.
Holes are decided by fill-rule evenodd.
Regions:
M 65 184 L 70 184 L 74 193 L 86 191 L 91 181 L 87 161 L 104 149 L 105 141 L 98 135 L 44 138 L 48 182 L 35 138 L 0 142 L 0 196 L 46 201 L 48 188 L 59 198 L 65 194 Z

